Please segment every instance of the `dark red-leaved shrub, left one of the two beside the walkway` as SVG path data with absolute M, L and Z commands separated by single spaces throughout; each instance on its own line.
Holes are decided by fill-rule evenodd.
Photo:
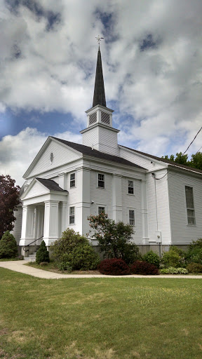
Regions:
M 104 259 L 100 262 L 98 270 L 102 274 L 108 274 L 111 276 L 124 276 L 130 274 L 130 268 L 123 259 Z

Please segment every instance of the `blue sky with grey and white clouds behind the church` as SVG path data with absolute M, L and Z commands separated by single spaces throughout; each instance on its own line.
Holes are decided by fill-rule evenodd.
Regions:
M 1 0 L 0 172 L 17 184 L 48 135 L 81 142 L 97 41 L 119 144 L 184 152 L 202 123 L 201 0 Z M 189 156 L 202 146 L 202 131 Z

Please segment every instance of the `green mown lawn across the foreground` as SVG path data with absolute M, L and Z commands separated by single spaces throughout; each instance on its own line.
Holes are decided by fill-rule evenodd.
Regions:
M 0 358 L 202 357 L 200 279 L 0 278 Z

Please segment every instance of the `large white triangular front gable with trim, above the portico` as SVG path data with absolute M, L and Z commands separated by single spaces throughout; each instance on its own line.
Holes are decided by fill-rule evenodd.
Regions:
M 43 144 L 43 147 L 41 147 L 39 153 L 34 158 L 34 161 L 29 165 L 23 178 L 39 177 L 41 173 L 75 161 L 76 159 L 81 158 L 81 156 L 82 154 L 79 151 L 58 142 L 53 137 L 48 137 Z

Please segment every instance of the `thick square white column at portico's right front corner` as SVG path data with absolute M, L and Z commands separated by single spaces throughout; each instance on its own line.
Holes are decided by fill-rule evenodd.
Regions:
M 58 239 L 58 203 L 59 201 L 45 201 L 43 241 L 47 246 Z

